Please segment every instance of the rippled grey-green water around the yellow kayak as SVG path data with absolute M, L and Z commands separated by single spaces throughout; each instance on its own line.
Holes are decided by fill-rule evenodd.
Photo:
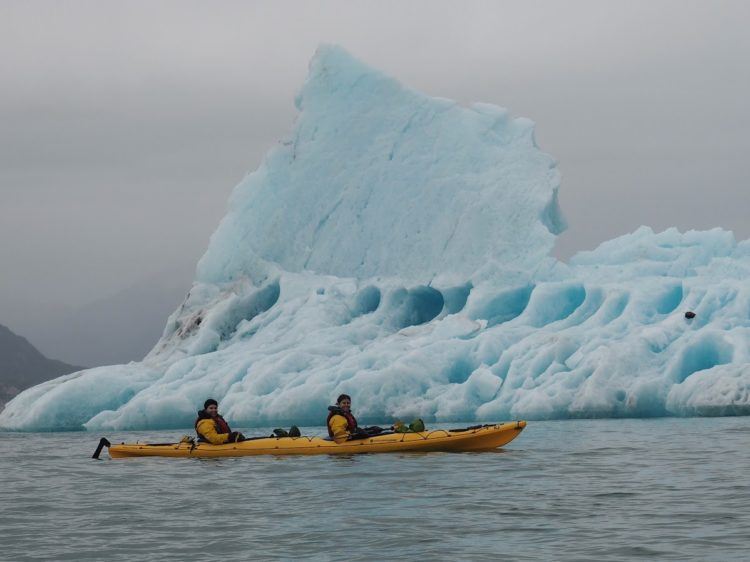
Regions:
M 750 418 L 532 422 L 490 453 L 94 461 L 98 438 L 0 433 L 1 559 L 750 558 Z

